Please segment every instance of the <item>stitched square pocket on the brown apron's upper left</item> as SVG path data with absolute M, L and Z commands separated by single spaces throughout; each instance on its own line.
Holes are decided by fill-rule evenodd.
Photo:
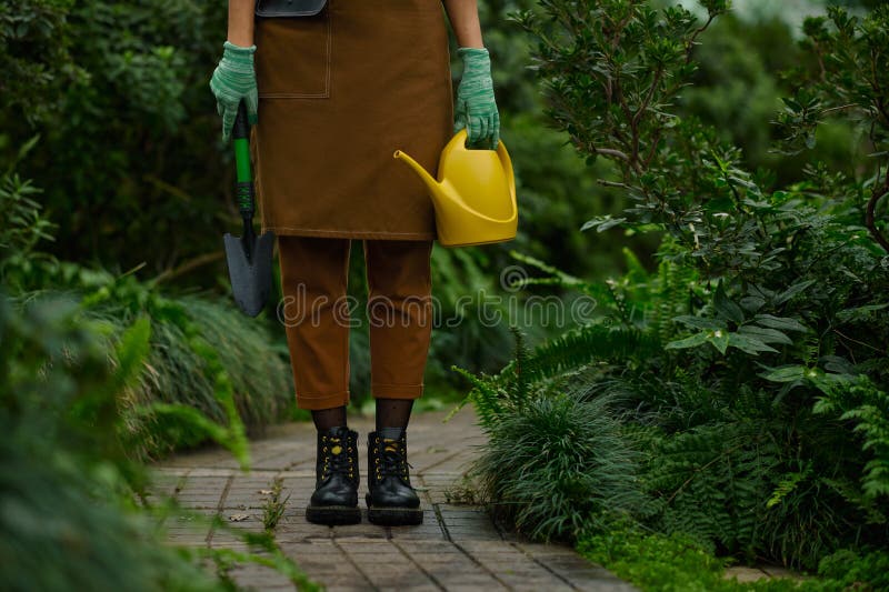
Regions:
M 330 97 L 330 3 L 311 17 L 256 21 L 257 87 L 260 99 Z

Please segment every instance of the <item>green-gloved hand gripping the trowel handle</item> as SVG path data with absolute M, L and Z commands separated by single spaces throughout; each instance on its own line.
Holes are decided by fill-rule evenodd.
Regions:
M 219 66 L 210 78 L 210 90 L 216 96 L 216 109 L 222 117 L 222 139 L 228 142 L 241 99 L 247 102 L 248 121 L 250 124 L 257 122 L 259 94 L 253 70 L 253 53 L 257 47 L 242 48 L 229 41 L 222 47 L 224 48 L 222 59 L 219 60 Z

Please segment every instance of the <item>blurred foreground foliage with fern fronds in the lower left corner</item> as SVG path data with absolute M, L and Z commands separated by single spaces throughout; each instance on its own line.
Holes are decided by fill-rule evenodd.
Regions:
M 0 565 L 10 590 L 220 590 L 227 569 L 253 562 L 278 569 L 301 590 L 318 590 L 270 533 L 242 532 L 216 516 L 244 549 L 171 545 L 162 528 L 206 520 L 152 491 L 133 432 L 133 411 L 176 418 L 191 433 L 228 448 L 243 468 L 249 450 L 231 381 L 193 325 L 184 339 L 207 361 L 226 422 L 192 407 L 123 393 L 150 371 L 151 323 L 136 317 L 119 334 L 91 318 L 90 298 L 48 295 L 13 305 L 0 294 Z M 181 319 L 180 319 L 181 320 Z M 139 417 L 139 415 L 137 415 Z M 153 489 L 153 488 L 152 488 Z M 208 528 L 210 524 L 208 524 Z M 217 566 L 216 576 L 206 568 Z

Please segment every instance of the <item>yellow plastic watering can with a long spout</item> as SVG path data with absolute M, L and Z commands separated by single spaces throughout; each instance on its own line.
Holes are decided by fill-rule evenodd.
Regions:
M 501 140 L 497 151 L 470 150 L 466 139 L 463 128 L 441 151 L 438 181 L 401 150 L 396 150 L 394 158 L 410 165 L 429 188 L 442 247 L 512 240 L 519 212 L 507 148 Z

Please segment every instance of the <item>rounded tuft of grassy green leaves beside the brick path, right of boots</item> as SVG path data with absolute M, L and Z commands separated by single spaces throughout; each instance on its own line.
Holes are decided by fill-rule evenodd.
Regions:
M 481 496 L 495 516 L 529 536 L 570 539 L 643 502 L 637 453 L 602 398 L 532 395 L 486 432 L 488 445 L 471 470 L 481 475 Z

